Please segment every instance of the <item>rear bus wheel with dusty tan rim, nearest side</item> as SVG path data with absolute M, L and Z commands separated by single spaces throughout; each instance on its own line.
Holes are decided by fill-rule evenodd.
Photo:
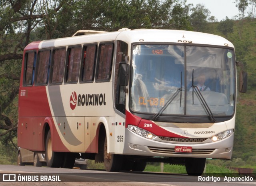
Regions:
M 51 131 L 48 132 L 45 142 L 45 159 L 48 167 L 59 168 L 62 165 L 63 154 L 62 152 L 52 151 L 52 138 Z

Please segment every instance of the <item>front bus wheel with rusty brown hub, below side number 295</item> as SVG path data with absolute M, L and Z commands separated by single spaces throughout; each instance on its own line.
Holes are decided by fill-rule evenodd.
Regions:
M 107 152 L 107 138 L 104 142 L 104 166 L 108 172 L 119 172 L 122 168 L 123 156 Z

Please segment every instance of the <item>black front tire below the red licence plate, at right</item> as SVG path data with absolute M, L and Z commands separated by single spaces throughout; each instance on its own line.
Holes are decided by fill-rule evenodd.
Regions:
M 190 176 L 201 176 L 204 173 L 206 158 L 186 158 L 185 166 Z

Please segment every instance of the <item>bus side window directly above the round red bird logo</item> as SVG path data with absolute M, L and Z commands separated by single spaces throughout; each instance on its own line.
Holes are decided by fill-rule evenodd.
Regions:
M 68 50 L 68 65 L 66 70 L 66 83 L 77 83 L 81 61 L 81 47 Z

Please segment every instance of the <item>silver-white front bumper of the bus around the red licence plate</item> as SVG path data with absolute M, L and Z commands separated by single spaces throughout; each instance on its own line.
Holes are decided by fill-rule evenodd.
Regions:
M 229 137 L 207 143 L 171 143 L 146 139 L 126 128 L 123 154 L 138 156 L 193 157 L 230 159 L 234 133 Z M 175 152 L 176 146 L 192 147 L 192 152 Z

